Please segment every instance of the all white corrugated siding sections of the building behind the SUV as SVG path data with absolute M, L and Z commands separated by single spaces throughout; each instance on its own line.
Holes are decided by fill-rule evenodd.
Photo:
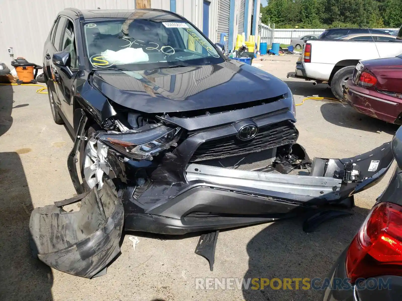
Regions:
M 211 0 L 209 6 L 209 39 L 217 41 L 218 4 L 222 0 Z M 236 7 L 240 7 L 236 0 Z M 252 2 L 247 0 L 248 32 L 251 29 Z M 49 34 L 57 13 L 66 7 L 79 9 L 133 9 L 135 0 L 0 0 L 0 61 L 10 67 L 12 58 L 8 55 L 8 47 L 13 47 L 14 58 L 25 57 L 28 61 L 42 64 L 43 44 Z M 152 8 L 170 10 L 170 0 L 151 0 Z M 237 10 L 236 10 L 237 11 Z M 203 0 L 176 0 L 176 12 L 189 19 L 195 26 L 202 28 Z M 259 13 L 259 9 L 258 9 Z M 236 15 L 236 23 L 238 20 Z M 234 32 L 237 32 L 236 24 Z M 233 39 L 236 41 L 236 35 Z

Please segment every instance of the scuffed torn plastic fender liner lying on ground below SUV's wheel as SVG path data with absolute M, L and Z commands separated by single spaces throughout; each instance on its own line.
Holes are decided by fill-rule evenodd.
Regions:
M 92 278 L 120 252 L 124 210 L 110 179 L 81 200 L 79 211 L 35 208 L 29 221 L 33 256 L 72 275 Z

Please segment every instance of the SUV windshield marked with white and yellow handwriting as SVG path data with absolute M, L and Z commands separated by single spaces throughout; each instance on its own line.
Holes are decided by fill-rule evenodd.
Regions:
M 213 45 L 186 21 L 121 19 L 87 22 L 86 51 L 96 68 L 140 70 L 224 62 Z

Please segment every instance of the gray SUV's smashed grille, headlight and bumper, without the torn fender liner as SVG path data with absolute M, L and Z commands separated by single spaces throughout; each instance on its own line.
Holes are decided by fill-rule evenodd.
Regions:
M 353 158 L 310 160 L 296 143 L 293 108 L 289 92 L 231 110 L 160 114 L 147 124 L 136 117 L 123 132 L 94 134 L 124 183 L 125 229 L 213 231 L 345 205 L 345 199 L 353 205 L 353 194 L 390 167 L 390 143 Z

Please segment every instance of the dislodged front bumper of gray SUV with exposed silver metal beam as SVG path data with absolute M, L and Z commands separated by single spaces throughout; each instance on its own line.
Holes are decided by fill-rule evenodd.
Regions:
M 361 183 L 343 183 L 334 172 L 356 162 Z M 375 169 L 370 167 L 378 163 Z M 296 216 L 333 206 L 375 185 L 393 161 L 390 143 L 353 158 L 316 158 L 310 175 L 282 175 L 206 165 L 187 166 L 185 179 L 163 169 L 140 195 L 128 185 L 123 193 L 125 229 L 162 234 L 218 230 Z M 127 162 L 129 164 L 129 162 Z M 371 171 L 369 171 L 369 169 Z M 162 171 L 154 171 L 158 177 Z

